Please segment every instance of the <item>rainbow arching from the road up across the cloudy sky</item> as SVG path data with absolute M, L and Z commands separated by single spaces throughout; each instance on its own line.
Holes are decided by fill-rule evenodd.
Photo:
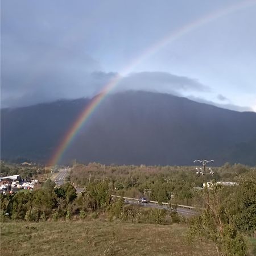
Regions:
M 133 71 L 134 67 L 136 67 L 139 63 L 141 63 L 144 59 L 150 57 L 151 55 L 159 51 L 159 49 L 163 48 L 167 44 L 174 42 L 175 40 L 181 38 L 182 36 L 195 30 L 196 28 L 203 26 L 204 24 L 212 22 L 213 20 L 221 18 L 222 16 L 226 16 L 231 13 L 234 13 L 235 11 L 245 9 L 250 6 L 254 6 L 255 4 L 256 4 L 255 0 L 242 1 L 235 5 L 228 6 L 225 9 L 221 9 L 221 10 L 214 11 L 213 13 L 209 13 L 208 15 L 205 15 L 199 19 L 196 19 L 191 23 L 185 24 L 185 26 L 178 28 L 177 30 L 173 31 L 171 34 L 159 40 L 158 43 L 148 47 L 141 55 L 139 55 L 137 59 L 131 61 L 131 63 L 127 65 L 126 68 L 123 69 L 123 71 L 119 72 L 118 75 L 113 77 L 113 79 L 110 80 L 109 83 L 104 86 L 101 92 L 97 94 L 96 97 L 93 98 L 90 104 L 86 106 L 84 110 L 82 110 L 81 114 L 76 119 L 75 123 L 71 125 L 71 128 L 67 131 L 64 138 L 61 140 L 61 143 L 56 148 L 47 166 L 53 166 L 60 162 L 61 157 L 63 156 L 65 150 L 67 150 L 69 145 L 72 143 L 73 139 L 76 137 L 76 134 L 79 132 L 82 125 L 89 119 L 92 113 L 97 109 L 97 106 L 101 104 L 101 102 L 104 100 L 104 98 L 108 96 L 110 92 L 112 92 L 115 86 L 118 85 L 118 82 L 122 80 L 123 76 Z

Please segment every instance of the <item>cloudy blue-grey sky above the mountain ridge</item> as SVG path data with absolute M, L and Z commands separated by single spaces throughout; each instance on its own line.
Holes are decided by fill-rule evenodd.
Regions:
M 256 112 L 256 1 L 1 1 L 1 107 L 151 90 Z

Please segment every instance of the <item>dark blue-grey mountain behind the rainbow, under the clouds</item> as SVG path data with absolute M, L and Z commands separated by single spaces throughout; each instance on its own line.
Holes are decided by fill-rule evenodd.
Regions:
M 1 157 L 47 161 L 88 99 L 1 110 Z M 170 94 L 108 96 L 68 147 L 63 162 L 256 164 L 256 113 L 234 112 Z

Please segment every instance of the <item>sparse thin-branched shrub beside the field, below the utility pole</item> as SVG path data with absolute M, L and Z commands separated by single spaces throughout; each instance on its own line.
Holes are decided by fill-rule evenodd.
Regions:
M 189 240 L 204 237 L 214 243 L 221 256 L 245 255 L 246 244 L 230 216 L 227 201 L 230 189 L 214 184 L 203 191 L 205 208 L 200 216 L 192 218 L 189 227 Z

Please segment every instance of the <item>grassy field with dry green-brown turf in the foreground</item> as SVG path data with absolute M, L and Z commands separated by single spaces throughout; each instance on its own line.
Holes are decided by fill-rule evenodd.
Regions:
M 188 245 L 183 225 L 47 221 L 1 223 L 1 255 L 217 255 Z

